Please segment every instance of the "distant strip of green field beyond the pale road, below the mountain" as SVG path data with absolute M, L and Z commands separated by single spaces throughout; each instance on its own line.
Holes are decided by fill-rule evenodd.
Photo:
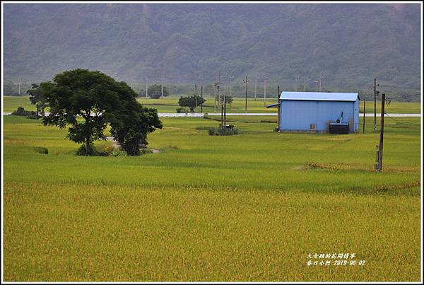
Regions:
M 162 99 L 146 99 L 139 98 L 139 102 L 146 107 L 155 107 L 158 112 L 176 112 L 178 105 L 178 99 L 175 97 L 162 98 Z M 276 103 L 276 98 L 271 98 L 266 101 L 266 104 Z M 28 96 L 4 96 L 4 112 L 13 112 L 18 109 L 19 106 L 25 108 L 25 110 L 35 111 L 35 105 L 30 105 Z M 380 112 L 381 102 L 377 101 L 377 112 Z M 263 98 L 248 98 L 247 104 L 248 112 L 271 112 L 275 113 L 275 108 L 264 107 Z M 366 111 L 369 113 L 374 112 L 374 102 L 367 101 Z M 196 112 L 200 112 L 200 107 L 196 108 Z M 204 105 L 204 112 L 220 112 L 220 108 L 214 108 L 213 98 L 206 98 Z M 245 112 L 245 99 L 234 98 L 234 103 L 228 105 L 227 112 Z M 360 112 L 363 112 L 363 102 L 360 102 Z M 420 113 L 420 103 L 418 102 L 391 102 L 389 106 L 386 106 L 386 112 L 388 113 Z

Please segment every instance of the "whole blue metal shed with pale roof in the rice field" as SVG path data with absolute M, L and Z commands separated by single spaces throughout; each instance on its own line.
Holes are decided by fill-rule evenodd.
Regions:
M 358 132 L 359 100 L 358 93 L 283 91 L 277 105 L 279 129 L 329 132 L 330 124 L 340 123 L 346 126 L 346 132 L 347 127 L 348 132 Z

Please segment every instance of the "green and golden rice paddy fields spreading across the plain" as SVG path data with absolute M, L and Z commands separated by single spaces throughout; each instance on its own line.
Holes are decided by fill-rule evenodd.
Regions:
M 386 119 L 382 173 L 373 118 L 336 135 L 228 117 L 242 134 L 208 136 L 213 119 L 161 118 L 160 153 L 81 157 L 66 130 L 4 116 L 4 281 L 420 281 L 420 118 Z

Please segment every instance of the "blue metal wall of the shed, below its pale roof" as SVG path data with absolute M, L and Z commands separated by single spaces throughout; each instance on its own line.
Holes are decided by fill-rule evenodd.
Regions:
M 358 132 L 359 98 L 356 101 L 281 100 L 281 131 L 309 131 L 317 124 L 317 131 L 329 132 L 330 120 L 343 112 L 343 122 L 350 132 Z

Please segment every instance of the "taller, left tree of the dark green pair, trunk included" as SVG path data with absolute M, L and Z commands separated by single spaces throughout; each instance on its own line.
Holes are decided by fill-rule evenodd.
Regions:
M 43 118 L 43 123 L 62 129 L 70 124 L 69 139 L 85 144 L 86 155 L 93 154 L 93 142 L 105 139 L 103 131 L 108 112 L 119 104 L 122 85 L 100 71 L 87 69 L 57 74 L 53 85 L 54 88 L 45 93 L 50 114 Z

